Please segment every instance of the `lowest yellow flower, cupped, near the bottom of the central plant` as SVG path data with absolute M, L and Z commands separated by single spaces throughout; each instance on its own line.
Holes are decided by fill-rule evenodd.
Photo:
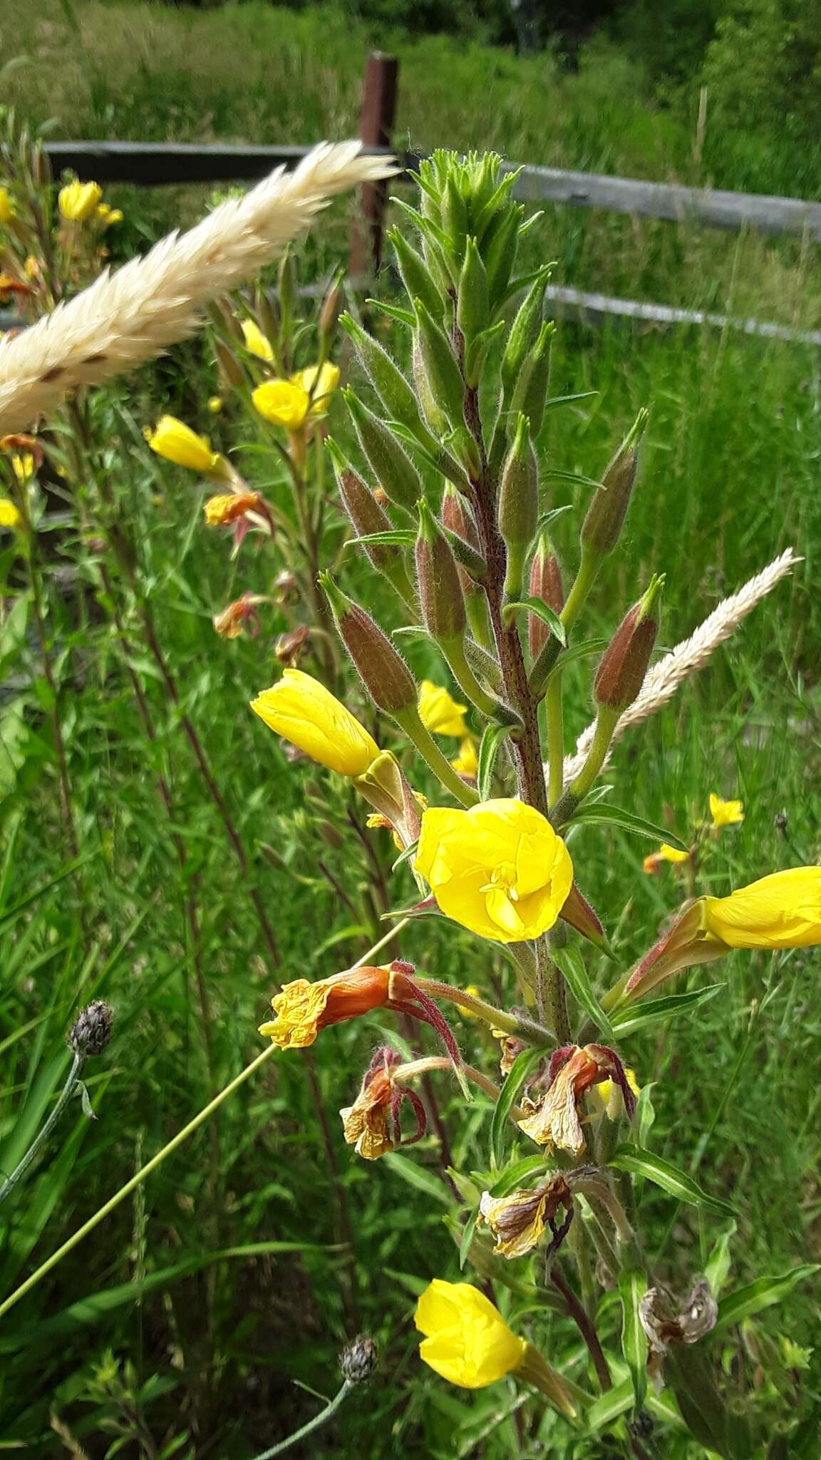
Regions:
M 432 1283 L 416 1304 L 425 1334 L 419 1358 L 451 1384 L 485 1388 L 519 1368 L 526 1343 L 511 1333 L 498 1308 L 466 1282 Z

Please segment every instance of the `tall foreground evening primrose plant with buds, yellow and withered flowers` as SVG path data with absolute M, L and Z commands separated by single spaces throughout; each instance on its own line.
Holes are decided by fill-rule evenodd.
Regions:
M 513 199 L 514 180 L 494 156 L 441 152 L 421 165 L 419 207 L 402 204 L 412 235 L 393 234 L 408 298 L 389 310 L 406 331 L 410 375 L 352 315 L 340 318 L 367 388 L 343 391 L 356 451 L 332 447 L 339 501 L 394 590 L 403 628 L 386 632 L 339 574 L 324 571 L 320 583 L 377 729 L 294 670 L 253 702 L 276 734 L 348 778 L 374 807 L 371 825 L 393 831 L 396 931 L 435 917 L 472 945 L 460 937 L 447 981 L 424 958 L 422 967 L 393 958 L 286 983 L 260 1034 L 276 1050 L 302 1048 L 371 1013 L 383 1029 L 392 1015 L 403 1021 L 402 1051 L 419 1023 L 435 1032 L 438 1056 L 381 1045 L 342 1108 L 345 1140 L 368 1162 L 422 1139 L 425 1104 L 415 1098 L 410 1129 L 402 1110 L 431 1070 L 450 1072 L 465 1101 L 473 1089 L 492 1105 L 485 1169 L 448 1171 L 459 1266 L 479 1286 L 431 1275 L 416 1307 L 419 1356 L 437 1374 L 463 1388 L 530 1388 L 522 1440 L 546 1432 L 546 1405 L 570 1426 L 562 1454 L 590 1453 L 590 1437 L 608 1428 L 646 1457 L 665 1425 L 676 1442 L 690 1432 L 741 1460 L 758 1453 L 760 1437 L 744 1399 L 722 1393 L 711 1336 L 742 1299 L 719 1301 L 716 1270 L 711 1280 L 692 1272 L 688 1292 L 666 1286 L 634 1187 L 650 1183 L 714 1216 L 732 1206 L 707 1162 L 701 1186 L 653 1153 L 650 1092 L 628 1063 L 630 1042 L 652 1026 L 673 1037 L 676 1016 L 716 993 L 668 983 L 685 969 L 733 949 L 777 958 L 820 943 L 821 867 L 761 867 L 748 888 L 692 895 L 672 924 L 647 929 L 635 967 L 619 969 L 593 907 L 581 826 L 605 838 L 619 826 L 662 841 L 660 861 L 691 863 L 691 844 L 612 804 L 600 784 L 625 717 L 653 710 L 663 577 L 644 585 L 609 639 L 584 638 L 590 596 L 619 549 L 649 415 L 638 413 L 599 480 L 554 467 L 549 422 L 567 400 L 551 394 L 549 269 L 516 276 L 533 219 Z M 551 537 L 551 477 L 578 491 L 578 550 L 567 565 Z M 700 645 L 691 667 L 720 637 Z M 397 642 L 428 664 L 438 657 L 434 680 L 418 683 Z M 595 723 L 568 758 L 564 676 L 589 664 Z M 447 734 L 460 737 L 465 762 L 443 750 Z M 695 841 L 741 819 L 738 802 L 713 796 Z M 510 968 L 505 999 L 504 980 L 492 991 L 482 984 L 494 949 Z M 457 1010 L 486 1026 L 497 1076 L 466 1063 Z M 522 1276 L 511 1283 L 513 1264 Z M 744 1313 L 805 1275 L 796 1269 L 780 1288 L 783 1279 L 763 1279 L 758 1296 L 744 1295 Z M 568 1348 L 571 1329 L 580 1349 Z

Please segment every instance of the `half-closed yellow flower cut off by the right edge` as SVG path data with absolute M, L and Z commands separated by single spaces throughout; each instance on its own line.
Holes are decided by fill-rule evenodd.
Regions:
M 821 867 L 790 867 L 729 898 L 704 898 L 704 927 L 728 948 L 821 943 Z

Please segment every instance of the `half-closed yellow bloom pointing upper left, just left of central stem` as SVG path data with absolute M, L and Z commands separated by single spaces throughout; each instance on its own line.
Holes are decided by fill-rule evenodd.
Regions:
M 276 734 L 340 775 L 364 775 L 380 753 L 351 711 L 301 669 L 286 669 L 272 689 L 251 701 L 251 710 Z

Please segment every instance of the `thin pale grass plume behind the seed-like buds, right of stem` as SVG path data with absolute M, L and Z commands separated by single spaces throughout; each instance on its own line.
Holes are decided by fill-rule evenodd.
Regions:
M 621 740 L 625 730 L 631 730 L 633 726 L 638 726 L 643 720 L 649 720 L 650 715 L 656 714 L 656 710 L 666 705 L 668 699 L 672 699 L 682 680 L 685 680 L 688 675 L 694 675 L 698 669 L 704 667 L 713 650 L 717 648 L 719 644 L 723 644 L 725 639 L 735 632 L 742 619 L 746 618 L 755 604 L 760 603 L 761 599 L 764 599 L 770 590 L 782 581 L 782 578 L 786 578 L 787 574 L 792 572 L 798 562 L 802 562 L 802 559 L 795 555 L 792 548 L 787 548 L 780 558 L 776 558 L 776 561 L 767 568 L 757 572 L 749 583 L 745 583 L 744 588 L 739 588 L 738 593 L 732 594 L 732 597 L 723 599 L 717 609 L 713 609 L 710 616 L 698 625 L 695 632 L 691 634 L 688 639 L 682 639 L 681 644 L 676 644 L 669 654 L 665 654 L 665 657 L 660 658 L 659 663 L 654 664 L 647 673 L 638 698 L 618 721 L 614 734 L 614 745 L 616 740 Z M 576 753 L 565 756 L 565 785 L 576 775 L 578 775 L 581 766 L 584 765 L 590 742 L 593 739 L 593 730 L 595 726 L 587 726 L 576 742 Z M 605 765 L 608 762 L 609 755 Z

